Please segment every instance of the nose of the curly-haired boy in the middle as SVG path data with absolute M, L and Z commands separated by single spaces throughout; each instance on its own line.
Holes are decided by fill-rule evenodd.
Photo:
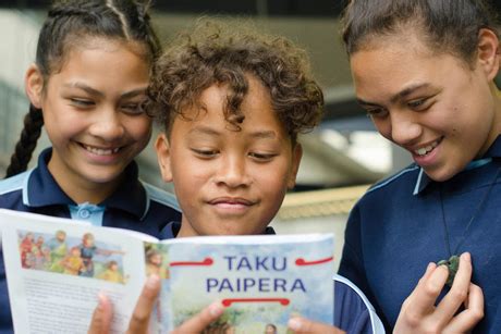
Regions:
M 216 183 L 229 188 L 248 186 L 250 176 L 246 159 L 244 157 L 223 157 L 220 160 Z

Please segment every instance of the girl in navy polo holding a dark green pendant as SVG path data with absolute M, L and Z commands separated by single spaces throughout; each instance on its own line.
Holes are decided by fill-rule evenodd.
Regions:
M 352 0 L 344 12 L 356 97 L 414 160 L 354 207 L 340 265 L 389 331 L 501 329 L 501 52 L 491 13 L 481 0 Z

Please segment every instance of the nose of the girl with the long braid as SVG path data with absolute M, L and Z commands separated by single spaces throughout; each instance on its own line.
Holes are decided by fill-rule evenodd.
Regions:
M 113 141 L 125 133 L 120 113 L 114 108 L 107 107 L 95 114 L 95 120 L 89 129 L 90 134 L 105 141 Z

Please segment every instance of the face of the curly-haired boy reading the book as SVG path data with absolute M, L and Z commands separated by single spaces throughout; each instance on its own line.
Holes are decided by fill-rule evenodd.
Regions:
M 292 147 L 268 90 L 248 79 L 240 132 L 223 117 L 227 89 L 213 85 L 203 91 L 205 109 L 195 120 L 178 116 L 170 139 L 157 139 L 162 177 L 173 182 L 183 212 L 179 236 L 260 234 L 294 186 L 301 146 Z

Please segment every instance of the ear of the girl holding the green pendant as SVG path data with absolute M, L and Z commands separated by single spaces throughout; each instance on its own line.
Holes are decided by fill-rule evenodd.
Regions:
M 478 32 L 478 62 L 482 66 L 489 81 L 493 81 L 498 74 L 501 51 L 498 36 L 490 29 Z

